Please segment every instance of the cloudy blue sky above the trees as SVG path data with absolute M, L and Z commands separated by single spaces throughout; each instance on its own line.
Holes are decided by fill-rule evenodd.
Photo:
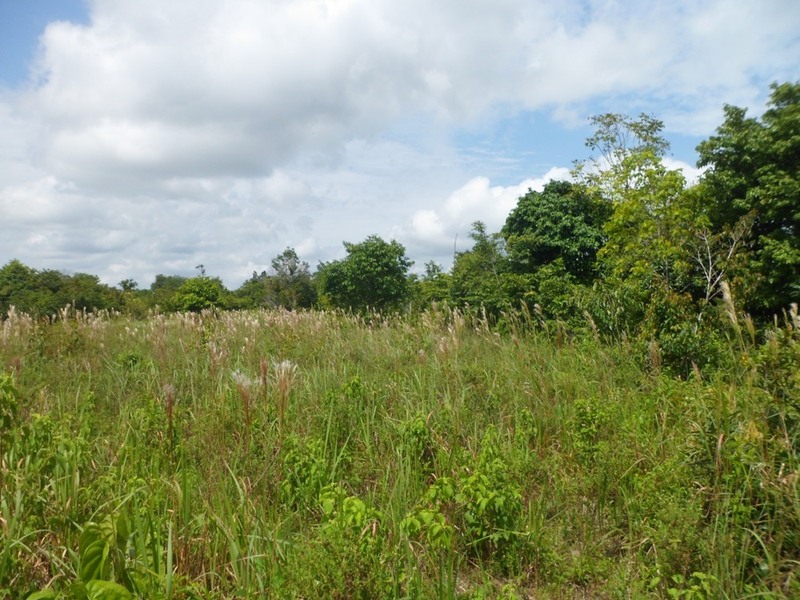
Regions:
M 0 0 L 0 266 L 236 288 L 369 235 L 449 268 L 476 220 L 664 122 L 800 80 L 797 0 Z

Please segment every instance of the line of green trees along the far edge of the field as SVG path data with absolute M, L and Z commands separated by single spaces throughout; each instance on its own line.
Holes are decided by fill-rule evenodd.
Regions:
M 684 365 L 713 360 L 720 306 L 735 299 L 757 323 L 800 298 L 800 82 L 773 84 L 760 117 L 735 106 L 723 117 L 697 147 L 704 171 L 691 185 L 665 163 L 661 121 L 592 118 L 590 156 L 575 163 L 572 180 L 529 190 L 499 232 L 474 223 L 473 247 L 449 271 L 428 262 L 411 274 L 403 245 L 374 235 L 345 242 L 345 258 L 313 273 L 287 248 L 236 290 L 202 265 L 197 276 L 157 275 L 139 289 L 12 260 L 0 269 L 0 311 L 405 312 L 438 303 L 485 311 L 497 324 L 526 310 L 567 329 L 657 340 Z

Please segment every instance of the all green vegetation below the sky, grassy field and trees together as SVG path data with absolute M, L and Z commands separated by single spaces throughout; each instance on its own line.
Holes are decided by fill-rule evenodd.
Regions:
M 800 596 L 800 83 L 592 121 L 445 272 L 0 268 L 0 597 Z

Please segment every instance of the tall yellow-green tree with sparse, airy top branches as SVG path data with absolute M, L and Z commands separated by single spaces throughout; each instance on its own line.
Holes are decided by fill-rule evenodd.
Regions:
M 711 337 L 700 330 L 701 307 L 692 296 L 692 197 L 683 174 L 663 162 L 668 145 L 660 121 L 612 115 L 595 123 L 600 130 L 587 143 L 604 158 L 595 160 L 585 181 L 607 199 L 612 213 L 598 251 L 603 280 L 588 297 L 587 310 L 603 331 L 657 341 L 665 363 L 687 372 L 711 355 L 704 346 Z

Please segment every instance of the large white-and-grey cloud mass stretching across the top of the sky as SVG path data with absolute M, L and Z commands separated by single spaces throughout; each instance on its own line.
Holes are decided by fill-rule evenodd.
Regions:
M 771 4 L 96 0 L 89 25 L 44 32 L 25 104 L 60 177 L 259 176 L 409 111 L 656 88 L 705 106 L 749 87 L 763 47 L 793 66 L 773 41 L 790 35 L 788 4 Z

